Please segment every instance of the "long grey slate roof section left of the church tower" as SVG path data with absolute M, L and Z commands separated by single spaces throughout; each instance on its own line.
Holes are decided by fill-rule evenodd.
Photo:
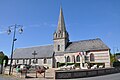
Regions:
M 15 49 L 13 58 L 34 58 L 34 51 L 37 53 L 35 58 L 52 57 L 53 45 Z

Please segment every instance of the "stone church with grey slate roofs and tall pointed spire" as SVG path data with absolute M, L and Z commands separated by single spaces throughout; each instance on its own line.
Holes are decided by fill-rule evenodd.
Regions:
M 12 65 L 38 64 L 57 68 L 60 64 L 68 63 L 110 67 L 110 48 L 100 38 L 70 42 L 60 8 L 53 44 L 15 49 Z

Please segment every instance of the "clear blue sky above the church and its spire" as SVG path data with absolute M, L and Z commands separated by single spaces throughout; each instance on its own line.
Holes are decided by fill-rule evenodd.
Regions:
M 14 24 L 24 30 L 14 49 L 53 44 L 60 6 L 70 41 L 100 38 L 111 53 L 120 49 L 120 0 L 0 0 L 0 51 L 10 56 Z

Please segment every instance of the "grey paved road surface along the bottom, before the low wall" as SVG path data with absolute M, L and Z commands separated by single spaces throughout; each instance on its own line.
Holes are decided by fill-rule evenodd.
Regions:
M 17 79 L 17 78 L 6 77 L 6 76 L 0 75 L 0 80 L 53 80 L 53 79 L 42 78 L 42 77 Z M 61 80 L 61 79 L 57 79 L 57 80 Z M 120 73 L 103 75 L 103 76 L 96 76 L 96 77 L 88 77 L 88 78 L 62 79 L 62 80 L 120 80 Z

